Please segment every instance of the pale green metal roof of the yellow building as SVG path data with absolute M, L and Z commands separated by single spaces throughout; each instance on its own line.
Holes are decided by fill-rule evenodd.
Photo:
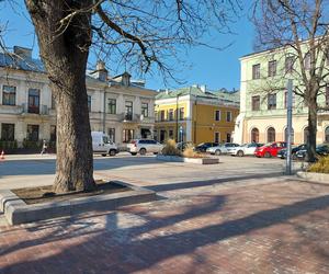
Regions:
M 239 91 L 227 91 L 226 89 L 220 89 L 217 91 L 208 91 L 208 90 L 204 91 L 198 85 L 180 88 L 172 91 L 160 91 L 158 92 L 156 100 L 170 99 L 170 98 L 184 96 L 184 95 L 193 95 L 197 98 L 214 99 L 214 100 L 219 99 L 219 100 L 235 102 L 235 103 L 238 103 L 240 101 Z

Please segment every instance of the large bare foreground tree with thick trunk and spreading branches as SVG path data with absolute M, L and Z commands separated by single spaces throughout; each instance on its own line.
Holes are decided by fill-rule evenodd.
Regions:
M 86 90 L 93 50 L 134 68 L 172 76 L 181 46 L 201 45 L 212 28 L 227 32 L 239 0 L 25 0 L 57 109 L 54 190 L 92 190 L 93 159 Z

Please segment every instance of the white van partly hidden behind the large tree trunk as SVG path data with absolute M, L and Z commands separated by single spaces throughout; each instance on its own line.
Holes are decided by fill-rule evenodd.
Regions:
M 115 156 L 118 152 L 116 145 L 110 141 L 106 134 L 102 132 L 91 132 L 91 138 L 94 153 Z

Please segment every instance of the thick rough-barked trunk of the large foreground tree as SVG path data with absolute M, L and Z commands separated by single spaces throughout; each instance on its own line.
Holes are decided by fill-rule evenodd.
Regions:
M 59 24 L 73 10 L 83 10 L 91 3 L 91 0 L 25 0 L 56 102 L 56 193 L 95 187 L 86 88 L 91 13 L 79 13 L 65 26 Z

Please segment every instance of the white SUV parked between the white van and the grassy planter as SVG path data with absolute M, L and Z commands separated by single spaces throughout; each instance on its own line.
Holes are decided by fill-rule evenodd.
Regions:
M 147 152 L 157 155 L 162 150 L 162 148 L 163 145 L 151 139 L 135 139 L 127 145 L 127 151 L 133 156 L 137 153 L 146 155 Z

